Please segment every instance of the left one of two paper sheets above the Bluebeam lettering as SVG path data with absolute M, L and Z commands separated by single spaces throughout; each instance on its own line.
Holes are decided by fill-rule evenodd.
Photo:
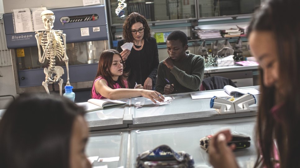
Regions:
M 14 9 L 16 33 L 33 32 L 31 13 L 29 8 Z

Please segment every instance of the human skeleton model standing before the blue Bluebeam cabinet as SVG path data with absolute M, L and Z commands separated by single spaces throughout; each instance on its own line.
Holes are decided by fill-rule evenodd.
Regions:
M 46 30 L 41 30 L 35 32 L 35 38 L 38 43 L 39 48 L 39 62 L 44 63 L 45 59 L 49 60 L 48 69 L 44 69 L 44 73 L 46 75 L 45 81 L 43 81 L 42 85 L 44 86 L 46 92 L 49 93 L 48 84 L 53 84 L 58 82 L 59 85 L 59 93 L 62 95 L 62 83 L 63 79 L 61 76 L 64 74 L 64 69 L 60 66 L 55 66 L 55 57 L 59 60 L 63 60 L 66 63 L 67 69 L 67 83 L 66 85 L 70 85 L 69 81 L 69 58 L 66 54 L 66 34 L 63 34 L 61 30 L 52 30 L 53 23 L 55 20 L 54 13 L 52 11 L 46 10 L 41 13 L 44 27 Z M 62 37 L 62 39 L 61 39 Z M 43 48 L 43 55 L 41 55 L 40 45 Z M 63 58 L 62 58 L 63 57 Z M 53 76 L 55 74 L 55 76 Z

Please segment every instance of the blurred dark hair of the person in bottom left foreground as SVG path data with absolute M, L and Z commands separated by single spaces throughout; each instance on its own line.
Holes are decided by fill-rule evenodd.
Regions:
M 84 109 L 53 95 L 22 95 L 0 120 L 0 167 L 68 168 L 70 138 Z

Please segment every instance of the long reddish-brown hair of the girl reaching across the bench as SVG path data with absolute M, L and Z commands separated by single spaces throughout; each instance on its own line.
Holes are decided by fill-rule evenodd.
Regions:
M 112 65 L 112 59 L 114 57 L 114 54 L 117 54 L 121 57 L 121 54 L 116 51 L 116 50 L 104 50 L 99 58 L 99 63 L 98 63 L 98 70 L 97 70 L 97 75 L 94 79 L 94 81 L 99 77 L 102 76 L 108 84 L 108 87 L 114 89 L 114 80 L 112 80 L 112 74 L 110 71 L 111 65 Z M 123 64 L 123 69 L 125 69 L 125 63 L 122 59 L 122 64 Z M 117 82 L 120 85 L 121 88 L 126 88 L 125 81 L 127 80 L 128 73 L 123 71 L 123 75 L 119 76 Z M 91 97 L 92 97 L 92 90 L 91 90 Z

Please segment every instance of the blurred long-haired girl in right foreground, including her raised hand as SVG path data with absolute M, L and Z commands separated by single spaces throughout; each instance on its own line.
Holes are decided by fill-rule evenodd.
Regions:
M 254 167 L 300 167 L 300 1 L 269 0 L 248 28 L 252 55 L 260 65 L 260 102 Z M 229 130 L 209 143 L 209 158 L 216 168 L 238 164 L 227 142 Z

